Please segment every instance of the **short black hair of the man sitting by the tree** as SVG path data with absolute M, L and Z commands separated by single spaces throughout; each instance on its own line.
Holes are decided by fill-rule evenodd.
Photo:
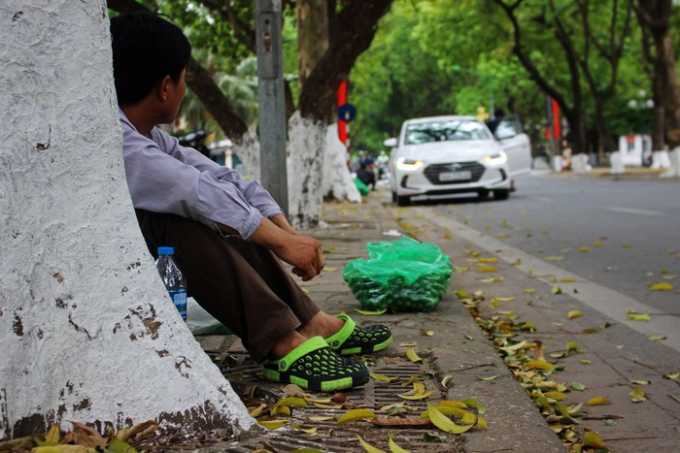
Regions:
M 111 19 L 113 77 L 118 103 L 136 104 L 169 75 L 178 82 L 191 57 L 182 30 L 150 12 L 125 13 Z

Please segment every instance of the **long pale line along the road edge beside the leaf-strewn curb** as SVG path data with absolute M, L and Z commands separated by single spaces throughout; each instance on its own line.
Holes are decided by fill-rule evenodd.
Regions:
M 519 269 L 549 286 L 554 286 L 554 281 L 574 279 L 575 283 L 560 283 L 560 287 L 565 294 L 644 335 L 666 336 L 663 344 L 680 352 L 680 319 L 677 317 L 668 316 L 654 307 L 645 305 L 617 291 L 591 282 L 580 275 L 573 274 L 547 261 L 529 255 L 455 220 L 447 219 L 443 216 L 429 215 L 431 211 L 423 208 L 412 208 L 412 210 L 416 215 L 424 215 L 432 223 L 448 229 L 451 234 L 455 234 L 462 239 L 472 242 L 476 247 L 493 253 L 499 259 L 513 264 L 515 269 Z M 518 259 L 521 262 L 519 265 L 516 264 Z M 536 269 L 541 270 L 541 276 L 533 274 L 532 270 Z M 573 290 L 576 288 L 578 292 L 574 293 Z M 649 312 L 652 320 L 650 322 L 632 321 L 626 317 L 626 313 L 629 311 L 636 313 Z

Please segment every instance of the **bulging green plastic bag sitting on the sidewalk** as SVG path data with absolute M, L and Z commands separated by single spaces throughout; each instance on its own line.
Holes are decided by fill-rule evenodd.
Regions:
M 444 297 L 453 268 L 437 245 L 402 236 L 366 248 L 369 259 L 350 261 L 343 274 L 362 308 L 430 312 Z

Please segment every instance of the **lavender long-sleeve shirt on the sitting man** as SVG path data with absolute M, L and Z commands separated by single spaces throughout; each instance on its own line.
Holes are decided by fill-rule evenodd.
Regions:
M 158 128 L 151 138 L 135 129 L 119 109 L 123 158 L 132 204 L 136 209 L 177 214 L 220 231 L 227 225 L 248 239 L 262 217 L 282 214 L 258 182 L 223 167 Z

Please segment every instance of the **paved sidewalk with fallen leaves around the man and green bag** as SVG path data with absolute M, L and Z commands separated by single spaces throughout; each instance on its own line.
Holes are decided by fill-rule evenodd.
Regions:
M 488 429 L 474 428 L 457 436 L 449 434 L 445 435 L 445 443 L 431 443 L 423 440 L 425 432 L 444 433 L 434 427 L 395 430 L 376 427 L 365 421 L 341 427 L 331 422 L 317 424 L 319 431 L 314 436 L 305 437 L 299 432 L 286 432 L 286 428 L 282 428 L 271 431 L 269 440 L 251 439 L 231 444 L 229 448 L 220 446 L 212 451 L 251 451 L 252 448 L 263 448 L 263 444 L 276 444 L 276 439 L 279 442 L 276 444 L 277 451 L 303 447 L 328 453 L 364 451 L 356 434 L 361 434 L 373 446 L 384 451 L 390 451 L 388 435 L 393 435 L 400 447 L 413 452 L 566 451 L 468 310 L 455 296 L 455 289 L 473 290 L 461 287 L 456 275 L 444 299 L 431 313 L 396 313 L 376 317 L 364 316 L 356 311 L 361 307 L 343 280 L 343 269 L 355 258 L 367 258 L 368 242 L 393 240 L 395 236 L 385 233 L 403 231 L 386 209 L 388 198 L 388 192 L 378 190 L 365 197 L 362 204 L 325 203 L 323 219 L 328 228 L 307 232 L 322 241 L 326 256 L 326 270 L 312 281 L 302 284 L 312 299 L 329 313 L 344 311 L 350 314 L 360 325 L 387 323 L 394 333 L 392 346 L 369 358 L 369 364 L 372 371 L 399 376 L 401 380 L 391 388 L 372 380 L 366 388 L 348 391 L 350 401 L 356 407 L 371 410 L 378 410 L 390 403 L 403 403 L 396 397 L 397 393 L 408 390 L 402 384 L 409 376 L 420 375 L 428 389 L 434 391 L 429 398 L 432 402 L 474 398 L 484 405 L 486 413 L 483 418 L 488 423 Z M 463 265 L 461 263 L 466 262 L 468 257 L 462 255 L 462 250 L 455 253 L 456 256 L 451 256 L 452 264 Z M 423 330 L 434 334 L 425 336 L 421 333 Z M 234 337 L 198 338 L 207 352 L 219 356 L 221 362 L 218 363 L 221 363 L 220 367 L 235 389 L 244 391 L 256 386 L 271 397 L 282 395 L 280 386 L 261 379 L 257 365 L 248 363 L 247 356 L 239 356 L 238 348 L 232 346 Z M 230 347 L 231 351 L 227 352 Z M 423 364 L 414 364 L 406 358 L 409 347 L 414 347 L 425 359 Z M 237 359 L 232 360 L 234 357 Z M 446 386 L 448 388 L 440 384 L 446 376 L 452 378 Z M 490 376 L 496 377 L 491 381 L 482 379 Z M 421 410 L 426 408 L 425 401 L 407 403 Z M 337 419 L 344 412 L 346 409 L 330 415 Z M 419 413 L 414 412 L 415 416 Z M 305 414 L 297 422 L 304 423 L 310 415 L 319 415 L 319 412 Z

